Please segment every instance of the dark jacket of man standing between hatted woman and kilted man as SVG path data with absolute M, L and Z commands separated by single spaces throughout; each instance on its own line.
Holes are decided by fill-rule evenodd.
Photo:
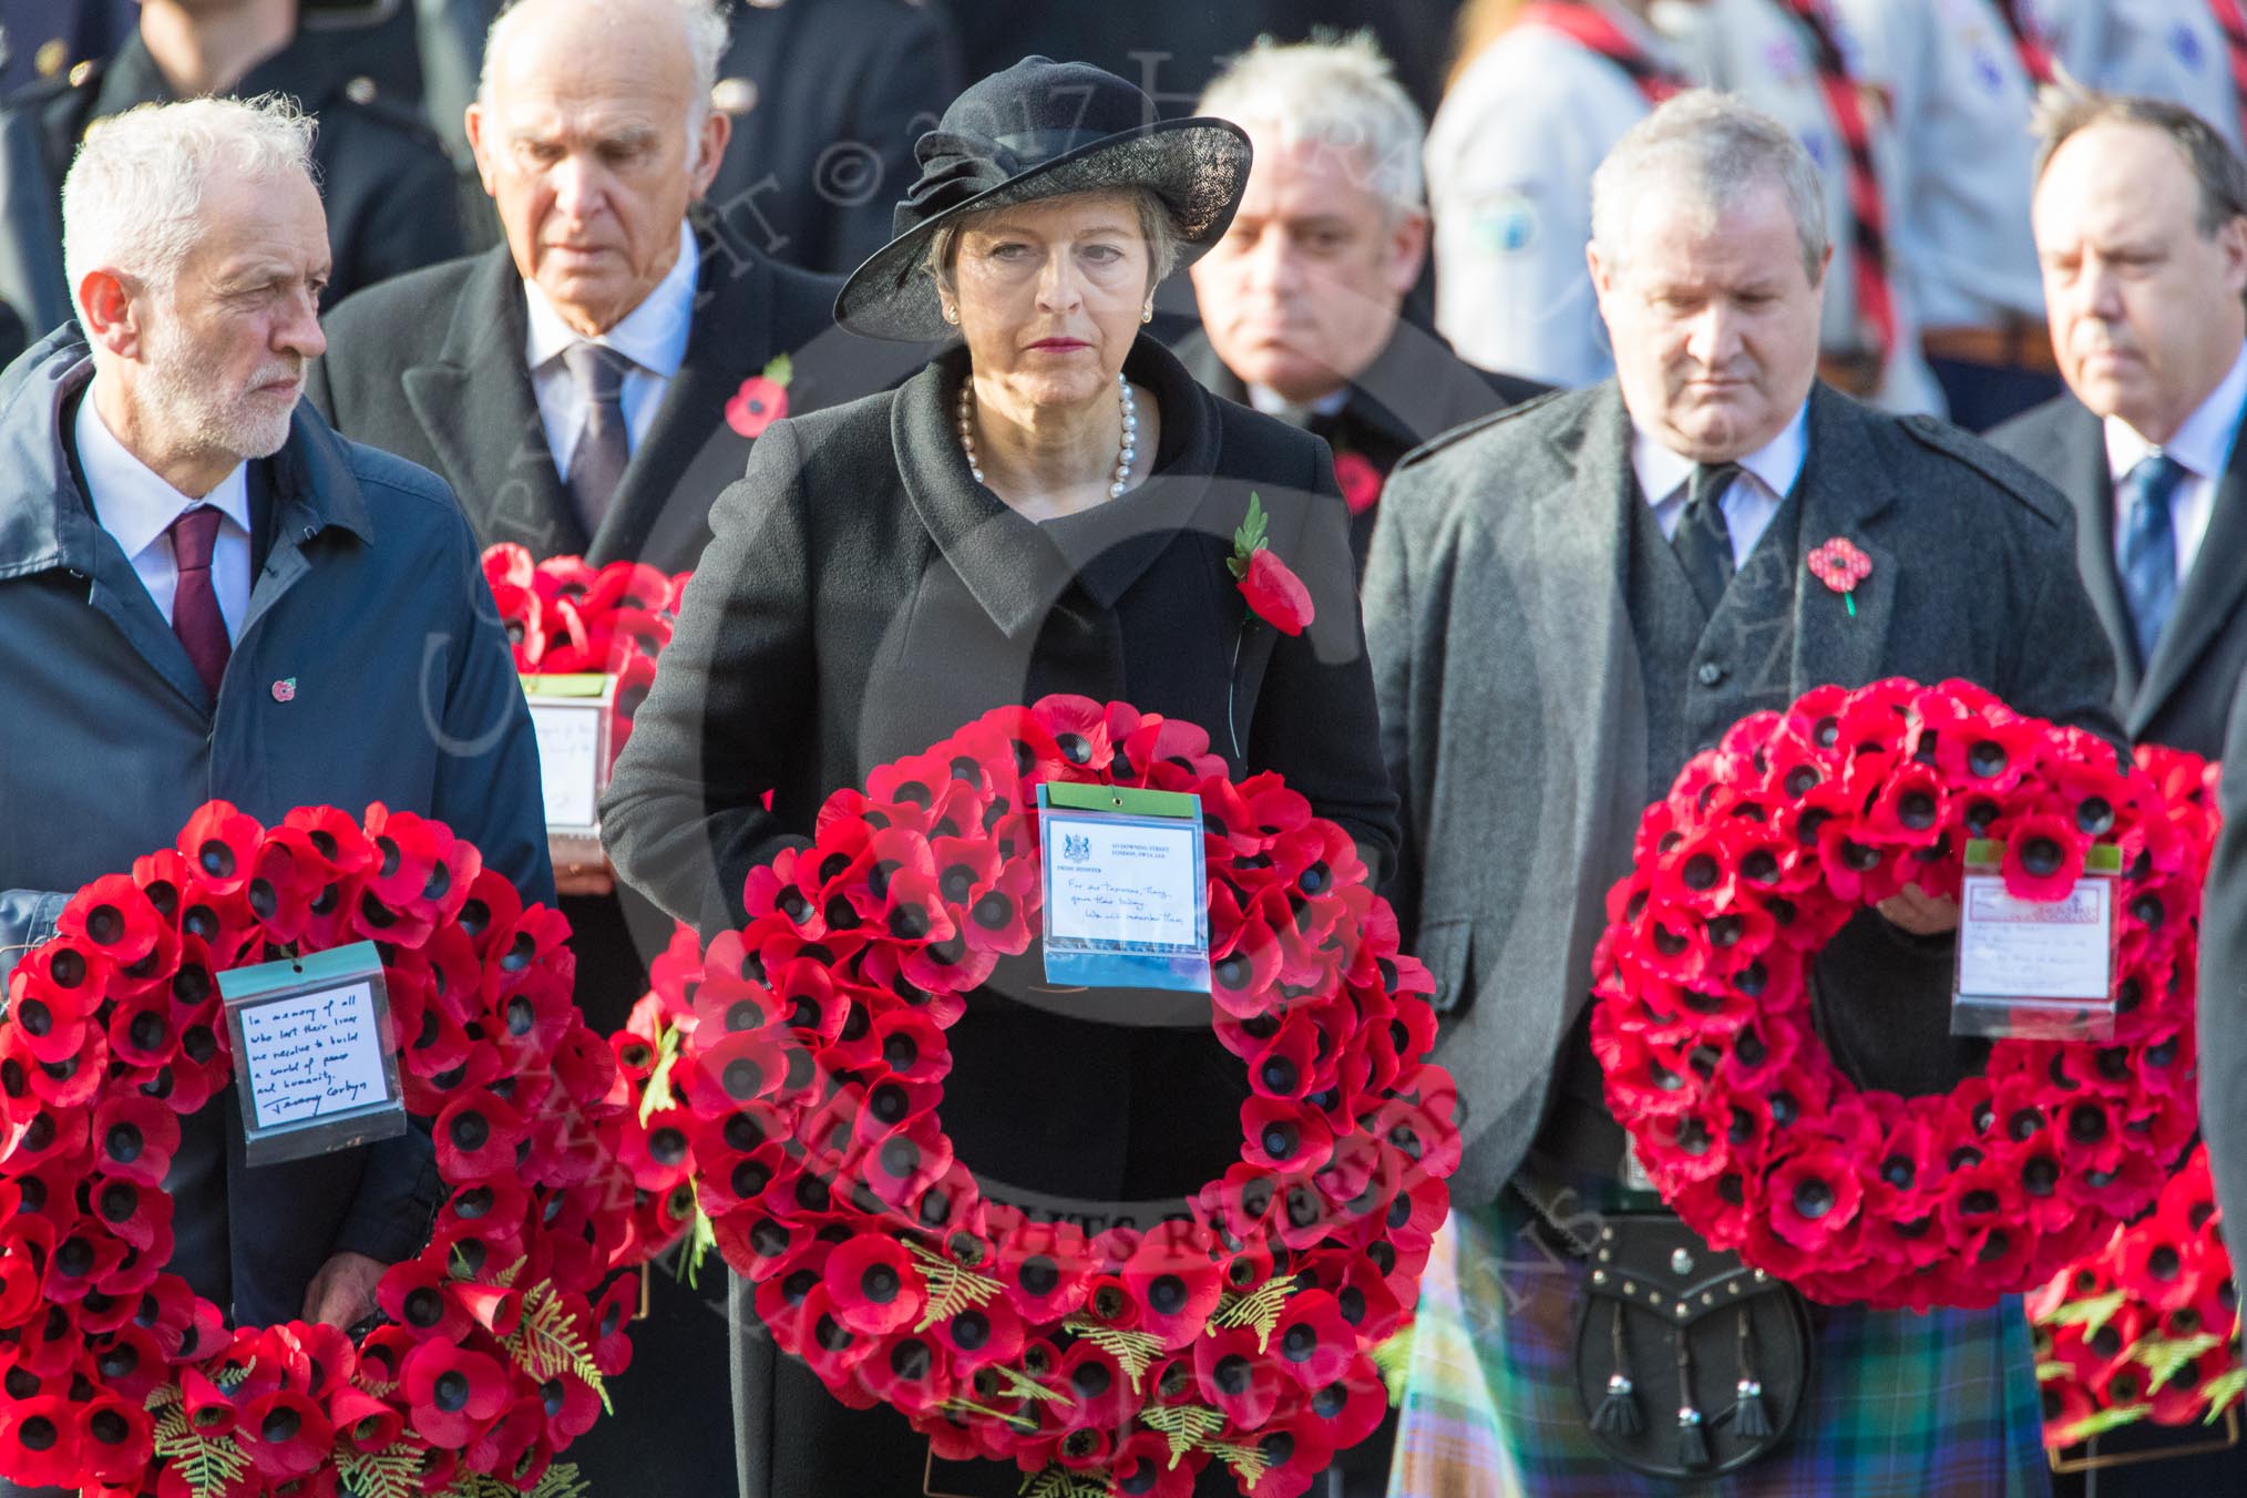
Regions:
M 1225 366 L 1207 332 L 1195 328 L 1171 350 L 1207 389 L 1247 404 L 1247 384 Z M 1400 319 L 1382 353 L 1350 382 L 1341 411 L 1312 415 L 1308 427 L 1328 440 L 1335 456 L 1355 451 L 1386 478 L 1389 469 L 1420 442 L 1535 400 L 1546 389 L 1535 380 L 1481 371 L 1454 355 L 1443 335 Z M 1359 573 L 1366 570 L 1377 514 L 1380 508 L 1373 505 L 1350 517 L 1350 555 L 1357 557 Z

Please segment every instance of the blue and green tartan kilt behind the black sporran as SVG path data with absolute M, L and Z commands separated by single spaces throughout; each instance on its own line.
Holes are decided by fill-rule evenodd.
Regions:
M 1618 1467 L 1573 1390 L 1584 1262 L 1508 1190 L 1454 1211 L 1420 1282 L 1389 1498 L 2040 1498 L 2052 1491 L 2029 1321 L 1811 1307 L 1816 1370 L 1768 1458 L 1703 1482 Z

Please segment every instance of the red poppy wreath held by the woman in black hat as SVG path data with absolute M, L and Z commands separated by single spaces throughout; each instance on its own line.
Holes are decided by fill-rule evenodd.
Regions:
M 1240 1163 L 1144 1231 L 982 1197 L 937 1116 L 964 995 L 1040 930 L 1040 782 L 1202 802 L 1213 1029 L 1254 1096 Z M 1447 1208 L 1456 1091 L 1422 1060 L 1429 972 L 1279 775 L 1234 784 L 1200 728 L 1052 696 L 836 793 L 746 896 L 742 930 L 656 963 L 627 1069 L 649 1123 L 683 1109 L 665 1179 L 838 1399 L 1056 1498 L 1182 1498 L 1211 1460 L 1290 1498 L 1380 1424 L 1371 1350 Z

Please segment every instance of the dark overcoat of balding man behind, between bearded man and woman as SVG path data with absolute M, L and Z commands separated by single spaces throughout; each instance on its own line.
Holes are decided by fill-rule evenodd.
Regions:
M 685 362 L 598 535 L 584 535 L 546 447 L 524 366 L 524 281 L 506 245 L 337 308 L 306 393 L 337 431 L 443 474 L 485 546 L 519 541 L 537 557 L 683 573 L 710 539 L 710 501 L 748 463 L 750 438 L 726 422 L 744 380 L 786 353 L 789 409 L 813 411 L 879 391 L 921 357 L 836 330 L 834 281 L 775 265 L 701 216 L 697 225 L 701 281 Z

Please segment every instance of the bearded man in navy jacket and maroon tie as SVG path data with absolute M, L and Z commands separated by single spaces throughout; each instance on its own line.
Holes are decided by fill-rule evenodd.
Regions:
M 63 186 L 79 321 L 0 375 L 4 957 L 207 800 L 265 824 L 384 802 L 553 896 L 467 523 L 299 400 L 330 265 L 310 135 L 283 103 L 146 106 L 97 124 Z M 180 1127 L 171 1269 L 234 1323 L 348 1327 L 420 1251 L 425 1132 L 245 1166 L 231 1091 Z

